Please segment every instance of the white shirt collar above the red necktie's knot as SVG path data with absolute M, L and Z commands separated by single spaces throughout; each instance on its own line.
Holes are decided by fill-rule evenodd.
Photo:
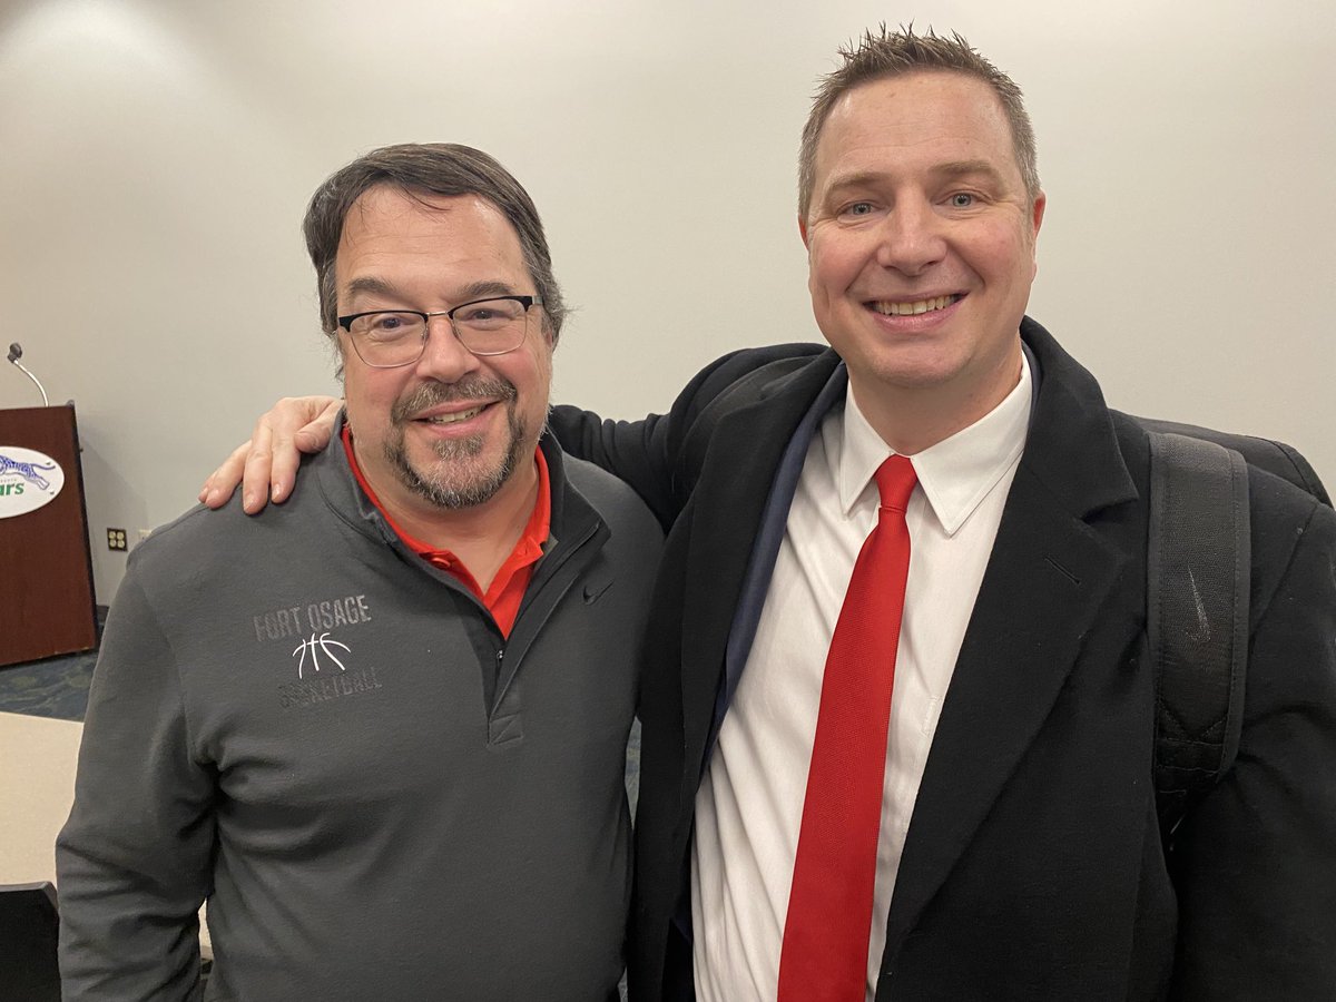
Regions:
M 979 502 L 1025 449 L 1030 429 L 1030 361 L 1021 353 L 1021 381 L 993 410 L 969 428 L 911 457 L 919 488 L 947 536 L 965 524 Z M 852 391 L 844 394 L 839 421 L 822 428 L 831 474 L 847 516 L 872 474 L 894 450 L 882 441 L 858 409 Z

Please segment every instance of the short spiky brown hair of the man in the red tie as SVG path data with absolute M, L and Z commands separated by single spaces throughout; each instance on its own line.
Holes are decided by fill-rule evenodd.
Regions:
M 982 80 L 993 88 L 1011 126 L 1011 144 L 1025 191 L 1030 202 L 1039 196 L 1034 126 L 1030 124 L 1030 114 L 1025 110 L 1021 88 L 971 48 L 961 35 L 951 32 L 951 36 L 946 37 L 937 35 L 931 28 L 925 35 L 915 35 L 912 24 L 888 32 L 883 24 L 878 33 L 874 35 L 870 28 L 856 44 L 851 41 L 843 45 L 839 55 L 844 65 L 820 79 L 812 98 L 812 110 L 807 115 L 807 124 L 803 126 L 803 144 L 798 154 L 799 216 L 807 218 L 812 187 L 816 184 L 816 144 L 835 102 L 862 84 L 918 72 L 961 73 Z

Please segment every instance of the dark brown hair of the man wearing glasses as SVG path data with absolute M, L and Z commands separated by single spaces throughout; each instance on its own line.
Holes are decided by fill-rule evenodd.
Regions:
M 315 266 L 321 326 L 329 337 L 334 337 L 338 326 L 334 258 L 343 235 L 343 220 L 357 199 L 381 184 L 401 188 L 409 195 L 477 195 L 494 204 L 520 236 L 524 263 L 542 299 L 548 331 L 553 341 L 557 339 L 566 309 L 561 287 L 552 274 L 548 236 L 533 199 L 496 159 L 457 143 L 402 143 L 373 150 L 331 174 L 311 196 L 302 232 Z

